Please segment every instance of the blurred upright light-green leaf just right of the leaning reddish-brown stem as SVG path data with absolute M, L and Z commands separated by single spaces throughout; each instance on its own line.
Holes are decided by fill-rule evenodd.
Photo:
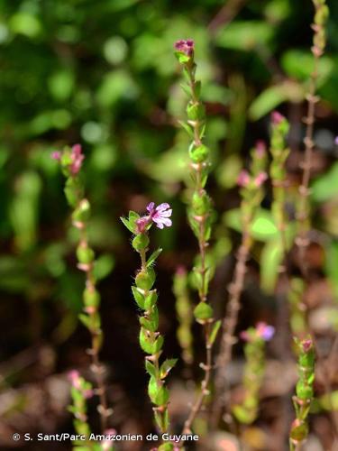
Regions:
M 269 241 L 260 255 L 260 287 L 272 294 L 279 277 L 279 266 L 283 261 L 283 250 L 280 240 Z

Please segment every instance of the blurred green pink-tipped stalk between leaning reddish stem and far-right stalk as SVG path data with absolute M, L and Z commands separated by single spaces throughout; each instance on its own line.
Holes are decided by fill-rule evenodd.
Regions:
M 286 183 L 287 171 L 285 163 L 288 158 L 289 149 L 286 147 L 285 139 L 288 134 L 288 121 L 277 111 L 271 115 L 272 134 L 270 143 L 270 153 L 272 161 L 269 167 L 269 175 L 272 181 L 272 215 L 274 216 L 276 226 L 279 229 L 280 240 L 285 257 L 287 253 L 287 238 L 286 238 L 286 217 L 285 217 L 285 203 L 286 203 Z

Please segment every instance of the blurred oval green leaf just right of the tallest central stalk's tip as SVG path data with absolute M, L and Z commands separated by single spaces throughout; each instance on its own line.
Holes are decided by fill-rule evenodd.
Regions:
M 273 35 L 274 28 L 269 23 L 237 21 L 218 32 L 215 42 L 225 49 L 251 51 L 259 45 L 268 45 Z

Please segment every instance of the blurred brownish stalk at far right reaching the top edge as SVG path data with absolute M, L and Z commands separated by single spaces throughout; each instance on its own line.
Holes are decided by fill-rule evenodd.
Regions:
M 319 101 L 319 97 L 315 95 L 315 91 L 318 78 L 319 59 L 323 55 L 326 45 L 325 24 L 329 15 L 329 9 L 327 5 L 325 5 L 325 0 L 313 0 L 313 4 L 315 5 L 315 20 L 312 28 L 315 33 L 311 51 L 314 56 L 314 69 L 311 74 L 309 92 L 306 96 L 307 115 L 304 119 L 304 122 L 306 123 L 306 137 L 304 139 L 306 150 L 304 161 L 302 162 L 303 176 L 299 187 L 299 198 L 297 202 L 298 236 L 296 244 L 299 249 L 299 262 L 301 265 L 301 270 L 304 275 L 307 273 L 305 254 L 309 243 L 307 234 L 310 228 L 309 182 L 311 175 L 312 153 L 315 146 L 313 140 L 315 104 Z

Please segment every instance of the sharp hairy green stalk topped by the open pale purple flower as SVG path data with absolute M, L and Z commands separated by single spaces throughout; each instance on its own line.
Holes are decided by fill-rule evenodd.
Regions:
M 153 289 L 156 280 L 156 274 L 153 270 L 153 263 L 160 255 L 161 249 L 151 253 L 147 257 L 150 244 L 149 230 L 153 223 L 159 228 L 171 226 L 171 209 L 169 204 L 160 204 L 155 207 L 151 202 L 147 207 L 148 215 L 139 216 L 137 213 L 129 212 L 128 219 L 121 218 L 123 225 L 134 235 L 132 239 L 133 249 L 140 254 L 141 269 L 135 277 L 135 285 L 132 286 L 132 295 L 139 308 L 142 309 L 140 319 L 140 345 L 142 351 L 148 354 L 145 357 L 145 368 L 150 375 L 148 384 L 148 394 L 152 404 L 154 404 L 154 418 L 161 433 L 165 433 L 169 428 L 168 404 L 169 391 L 165 386 L 165 379 L 177 359 L 167 359 L 160 364 L 160 355 L 162 354 L 163 336 L 158 331 L 159 327 L 159 309 L 157 308 L 158 294 Z M 164 448 L 164 445 L 167 448 Z M 173 449 L 170 444 L 164 444 L 163 449 Z M 160 447 L 160 449 L 162 449 Z

